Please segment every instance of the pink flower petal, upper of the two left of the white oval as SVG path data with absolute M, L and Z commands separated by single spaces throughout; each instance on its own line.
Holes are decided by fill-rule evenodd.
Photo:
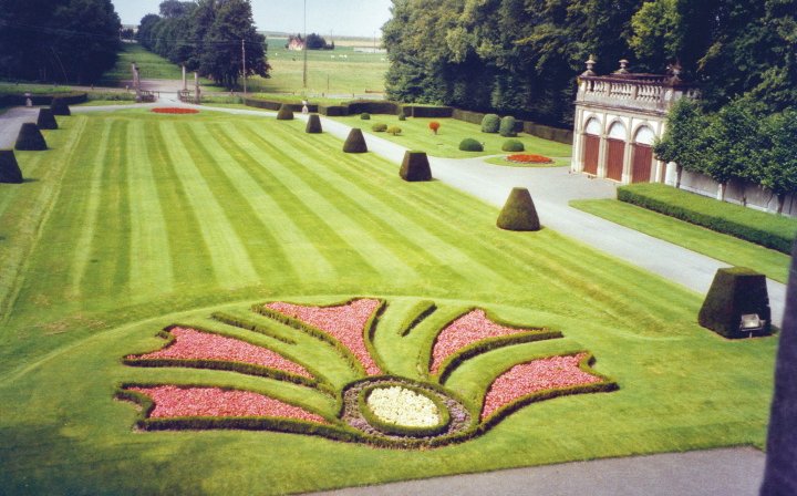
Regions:
M 298 363 L 245 341 L 185 328 L 174 328 L 169 332 L 176 338 L 172 345 L 153 353 L 128 358 L 242 362 L 312 378 L 310 372 Z

